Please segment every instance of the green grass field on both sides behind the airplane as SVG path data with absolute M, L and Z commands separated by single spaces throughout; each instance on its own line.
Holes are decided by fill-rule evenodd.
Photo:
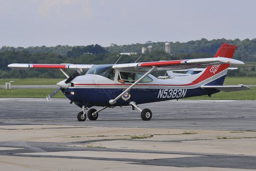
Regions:
M 12 85 L 54 85 L 60 82 L 62 79 L 40 79 L 40 78 L 26 78 L 26 79 L 0 79 L 0 85 L 4 85 L 5 82 L 14 81 Z M 237 85 L 237 84 L 255 84 L 256 77 L 227 77 L 224 84 Z M 252 90 L 246 91 L 233 91 L 213 94 L 212 97 L 199 96 L 188 97 L 185 99 L 210 99 L 210 100 L 256 100 L 256 87 L 251 87 Z M 54 89 L 40 88 L 40 89 L 0 89 L 0 97 L 36 97 L 46 98 L 46 95 L 50 94 Z M 61 91 L 59 91 L 54 98 L 65 98 Z

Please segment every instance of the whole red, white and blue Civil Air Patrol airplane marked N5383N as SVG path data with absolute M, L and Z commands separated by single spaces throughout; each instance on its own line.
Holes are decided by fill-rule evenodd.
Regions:
M 86 110 L 88 119 L 96 120 L 99 112 L 117 106 L 131 106 L 133 110 L 141 112 L 142 120 L 149 121 L 152 111 L 141 109 L 139 104 L 250 89 L 242 84 L 223 85 L 230 64 L 244 64 L 232 59 L 236 48 L 224 42 L 214 58 L 106 65 L 9 64 L 8 67 L 17 70 L 42 68 L 62 71 L 67 79 L 57 83 L 59 87 L 47 99 L 50 100 L 61 90 L 70 104 L 74 103 L 82 108 L 77 114 L 78 121 L 86 120 Z M 203 72 L 172 79 L 162 80 L 151 75 L 155 70 L 182 70 L 203 66 L 207 66 Z M 69 76 L 66 70 L 76 72 Z M 85 70 L 88 71 L 82 75 Z M 102 108 L 96 110 L 91 108 L 93 106 Z

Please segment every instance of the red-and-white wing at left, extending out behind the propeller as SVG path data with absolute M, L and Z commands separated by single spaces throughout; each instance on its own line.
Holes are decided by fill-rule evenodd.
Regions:
M 83 65 L 83 64 L 10 64 L 9 68 L 16 70 L 28 70 L 30 68 L 42 68 L 42 69 L 51 69 L 51 70 L 88 70 L 93 65 Z

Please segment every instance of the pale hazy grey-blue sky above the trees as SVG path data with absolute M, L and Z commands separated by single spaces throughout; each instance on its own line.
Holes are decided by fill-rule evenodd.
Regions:
M 256 0 L 0 0 L 0 47 L 256 38 Z

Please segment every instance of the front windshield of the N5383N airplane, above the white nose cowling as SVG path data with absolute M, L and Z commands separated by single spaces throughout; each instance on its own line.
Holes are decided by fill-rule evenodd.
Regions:
M 114 74 L 113 65 L 95 65 L 86 72 L 86 74 L 95 74 L 111 79 Z M 112 80 L 112 79 L 111 79 Z M 114 80 L 114 79 L 113 79 Z

